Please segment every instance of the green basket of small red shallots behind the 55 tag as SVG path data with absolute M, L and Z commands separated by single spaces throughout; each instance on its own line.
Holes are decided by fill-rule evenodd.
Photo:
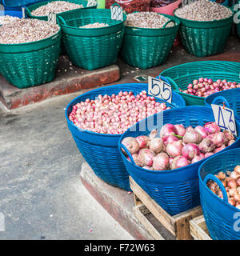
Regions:
M 202 105 L 204 99 L 222 90 L 240 88 L 240 62 L 202 61 L 173 66 L 164 70 L 174 90 L 181 94 L 186 105 Z

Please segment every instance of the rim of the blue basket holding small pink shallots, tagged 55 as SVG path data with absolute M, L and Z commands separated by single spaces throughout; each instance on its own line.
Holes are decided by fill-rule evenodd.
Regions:
M 129 83 L 124 83 L 124 84 L 117 84 L 117 85 L 113 85 L 113 86 L 122 86 L 122 85 L 130 85 L 130 84 L 139 84 L 139 85 L 146 85 L 146 83 L 142 83 L 142 82 L 129 82 Z M 104 86 L 104 87 L 112 87 L 113 86 Z M 100 87 L 98 89 L 101 89 L 101 88 L 104 88 L 104 87 Z M 95 89 L 95 90 L 98 90 L 98 89 Z M 90 93 L 92 90 L 84 93 L 84 94 L 81 94 L 79 95 L 78 97 L 81 97 L 82 95 L 86 95 L 88 93 Z M 176 92 L 174 92 L 175 94 L 178 94 Z M 78 98 L 77 97 L 77 98 Z M 74 122 L 70 121 L 70 119 L 68 118 L 68 115 L 67 115 L 67 110 L 69 109 L 70 105 L 76 100 L 76 98 L 74 98 L 72 101 L 70 101 L 70 103 L 66 106 L 66 110 L 65 110 L 65 118 L 66 118 L 66 121 L 67 123 L 72 126 L 74 129 L 77 129 L 83 133 L 87 133 L 87 134 L 94 134 L 94 135 L 97 135 L 97 136 L 106 136 L 106 138 L 120 138 L 122 136 L 122 134 L 99 134 L 99 133 L 96 133 L 94 131 L 90 131 L 90 130 L 84 130 L 82 128 L 78 128 L 78 126 L 75 126 L 74 125 Z M 164 110 L 164 111 L 168 111 L 168 110 Z M 124 134 L 124 133 L 123 133 Z

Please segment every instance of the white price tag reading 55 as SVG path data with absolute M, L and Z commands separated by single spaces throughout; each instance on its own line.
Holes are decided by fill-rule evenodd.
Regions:
M 166 102 L 172 102 L 172 88 L 161 79 L 148 77 L 148 94 Z

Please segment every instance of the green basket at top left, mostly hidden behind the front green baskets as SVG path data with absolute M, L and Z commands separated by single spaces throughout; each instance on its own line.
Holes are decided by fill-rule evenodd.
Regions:
M 79 5 L 82 5 L 84 6 L 84 8 L 81 8 L 81 9 L 76 9 L 76 10 L 82 10 L 82 9 L 92 9 L 92 8 L 97 8 L 97 4 L 95 6 L 89 6 L 87 7 L 87 2 L 86 0 L 50 0 L 50 1 L 44 1 L 44 2 L 37 2 L 37 3 L 34 3 L 33 5 L 30 5 L 28 7 L 26 7 L 26 14 L 28 17 L 30 18 L 38 18 L 38 19 L 41 19 L 41 20 L 47 20 L 47 16 L 34 16 L 34 15 L 31 15 L 31 12 L 33 10 L 36 10 L 38 9 L 38 7 L 40 6 L 46 6 L 46 4 L 48 4 L 49 2 L 55 2 L 55 1 L 66 1 L 66 2 L 73 2 L 73 3 L 77 3 Z M 71 10 L 69 10 L 71 11 Z M 69 11 L 66 11 L 66 12 L 62 12 L 60 13 L 61 15 L 62 14 L 65 14 L 65 13 L 68 13 Z M 57 14 L 57 17 L 60 15 L 60 14 Z

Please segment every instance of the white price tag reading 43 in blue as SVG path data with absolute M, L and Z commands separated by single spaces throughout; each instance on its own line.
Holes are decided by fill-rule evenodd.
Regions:
M 237 136 L 236 122 L 234 118 L 234 111 L 226 108 L 225 106 L 219 106 L 212 104 L 214 112 L 215 122 L 223 130 L 229 130 Z

